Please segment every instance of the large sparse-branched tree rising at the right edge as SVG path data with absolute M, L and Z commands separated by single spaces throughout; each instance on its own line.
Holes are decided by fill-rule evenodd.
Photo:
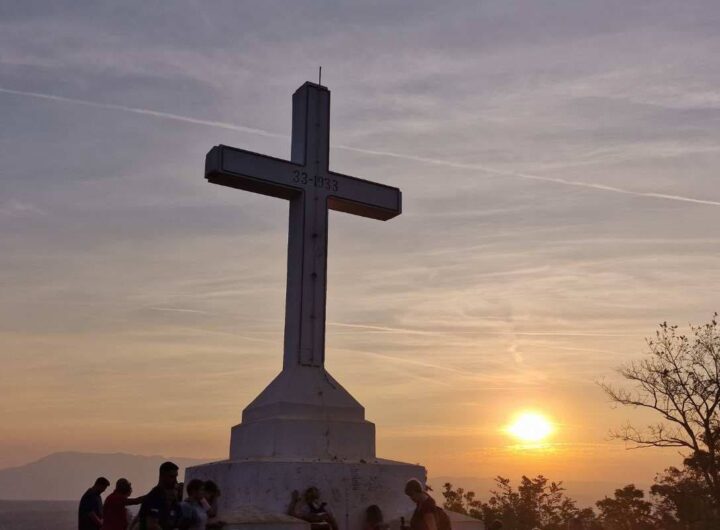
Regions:
M 647 340 L 647 356 L 620 368 L 631 390 L 601 386 L 620 405 L 654 412 L 657 423 L 638 429 L 630 424 L 615 437 L 640 447 L 685 449 L 686 462 L 702 477 L 720 506 L 720 327 L 717 313 L 690 337 L 667 322 Z

